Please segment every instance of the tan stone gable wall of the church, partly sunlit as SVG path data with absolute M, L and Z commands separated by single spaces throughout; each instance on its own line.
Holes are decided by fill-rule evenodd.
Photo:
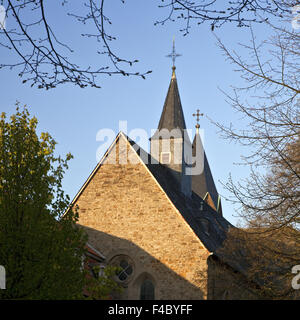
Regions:
M 126 154 L 134 163 L 119 164 Z M 122 135 L 75 203 L 89 242 L 108 262 L 118 255 L 133 262 L 122 299 L 139 299 L 146 275 L 156 299 L 206 298 L 209 252 Z

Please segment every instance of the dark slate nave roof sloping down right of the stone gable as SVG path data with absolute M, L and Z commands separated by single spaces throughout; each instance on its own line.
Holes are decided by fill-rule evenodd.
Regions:
M 246 276 L 249 269 L 249 261 L 246 259 L 247 253 L 244 250 L 243 242 L 235 245 L 239 249 L 234 254 L 228 250 L 223 250 L 223 242 L 227 237 L 227 233 L 231 228 L 236 229 L 236 227 L 203 201 L 195 192 L 192 192 L 191 197 L 186 197 L 181 192 L 178 181 L 175 180 L 167 166 L 157 163 L 155 160 L 153 162 L 150 154 L 124 133 L 120 134 L 127 138 L 131 146 L 134 146 L 133 149 L 141 161 L 147 166 L 205 248 L 219 258 L 220 261 Z

